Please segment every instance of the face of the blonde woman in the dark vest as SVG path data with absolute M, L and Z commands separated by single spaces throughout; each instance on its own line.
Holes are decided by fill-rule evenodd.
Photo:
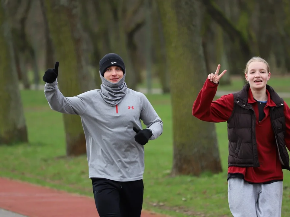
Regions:
M 270 76 L 271 73 L 268 72 L 266 64 L 260 61 L 251 62 L 245 74 L 250 87 L 256 90 L 263 89 L 270 79 Z

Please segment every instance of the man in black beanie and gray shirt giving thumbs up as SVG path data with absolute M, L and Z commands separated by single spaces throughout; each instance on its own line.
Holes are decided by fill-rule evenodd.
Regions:
M 144 145 L 161 135 L 163 122 L 146 96 L 127 88 L 119 55 L 107 54 L 100 60 L 101 90 L 74 97 L 63 96 L 57 88 L 58 66 L 56 62 L 45 72 L 44 93 L 50 108 L 82 119 L 98 214 L 140 217 Z

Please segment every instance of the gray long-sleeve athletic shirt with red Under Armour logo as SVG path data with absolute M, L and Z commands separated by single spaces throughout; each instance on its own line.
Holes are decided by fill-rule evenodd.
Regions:
M 45 97 L 50 108 L 65 114 L 80 115 L 85 133 L 89 178 L 135 181 L 143 178 L 144 146 L 138 144 L 133 126 L 141 129 L 141 120 L 152 132 L 150 140 L 163 132 L 163 122 L 143 93 L 129 89 L 116 106 L 108 105 L 90 90 L 65 97 L 57 80 L 46 83 Z

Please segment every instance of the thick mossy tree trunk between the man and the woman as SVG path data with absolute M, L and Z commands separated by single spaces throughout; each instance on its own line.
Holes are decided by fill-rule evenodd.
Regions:
M 197 0 L 158 0 L 171 76 L 173 117 L 172 175 L 222 171 L 214 123 L 191 114 L 207 78 Z M 172 31 L 174 30 L 174 31 Z

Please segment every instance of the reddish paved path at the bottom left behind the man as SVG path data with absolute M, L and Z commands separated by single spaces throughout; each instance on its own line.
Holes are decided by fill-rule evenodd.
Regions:
M 98 217 L 99 215 L 95 201 L 91 197 L 0 177 L 0 217 L 2 216 Z M 165 217 L 165 215 L 143 210 L 141 217 Z

